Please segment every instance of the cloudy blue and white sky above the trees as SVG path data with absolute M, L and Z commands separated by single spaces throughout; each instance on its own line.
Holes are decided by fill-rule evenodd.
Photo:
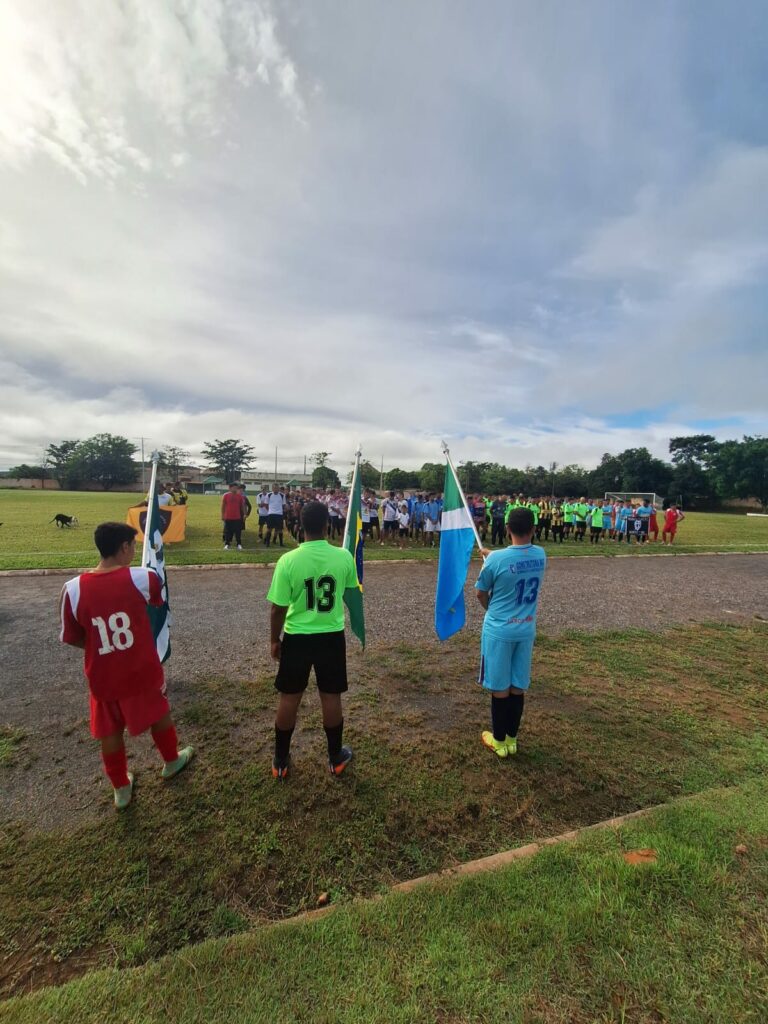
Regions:
M 767 49 L 762 0 L 2 0 L 0 468 L 766 432 Z

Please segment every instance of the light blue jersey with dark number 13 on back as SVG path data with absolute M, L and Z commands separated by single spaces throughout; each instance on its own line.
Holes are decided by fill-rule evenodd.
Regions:
M 547 555 L 535 544 L 512 545 L 494 551 L 485 559 L 476 590 L 490 594 L 483 636 L 497 640 L 532 640 L 539 588 L 544 578 Z

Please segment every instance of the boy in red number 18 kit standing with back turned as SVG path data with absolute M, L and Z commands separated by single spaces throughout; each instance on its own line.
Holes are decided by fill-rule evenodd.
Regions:
M 65 584 L 59 639 L 85 649 L 91 735 L 101 741 L 115 806 L 122 810 L 133 795 L 133 775 L 125 754 L 126 728 L 132 736 L 152 729 L 165 762 L 165 779 L 178 775 L 195 751 L 178 749 L 163 666 L 146 613 L 147 604 L 163 603 L 160 578 L 152 569 L 131 568 L 136 553 L 133 526 L 102 522 L 93 539 L 101 558 L 95 569 Z

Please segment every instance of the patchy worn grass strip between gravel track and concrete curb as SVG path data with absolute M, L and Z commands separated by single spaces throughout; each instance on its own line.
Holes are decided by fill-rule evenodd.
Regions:
M 449 642 L 439 674 L 431 650 L 400 643 L 356 662 L 345 705 L 355 762 L 339 780 L 310 699 L 293 776 L 276 785 L 271 678 L 220 676 L 185 688 L 178 729 L 199 758 L 172 785 L 144 772 L 124 814 L 104 784 L 93 820 L 6 826 L 0 990 L 140 965 L 311 908 L 323 892 L 369 896 L 768 771 L 768 628 L 542 637 L 520 754 L 507 762 L 479 742 L 475 645 Z

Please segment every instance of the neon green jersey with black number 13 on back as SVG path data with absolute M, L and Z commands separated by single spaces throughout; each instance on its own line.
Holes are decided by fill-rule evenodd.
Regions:
M 348 551 L 306 541 L 274 566 L 266 599 L 288 608 L 286 633 L 338 633 L 344 629 L 344 591 L 356 586 Z

